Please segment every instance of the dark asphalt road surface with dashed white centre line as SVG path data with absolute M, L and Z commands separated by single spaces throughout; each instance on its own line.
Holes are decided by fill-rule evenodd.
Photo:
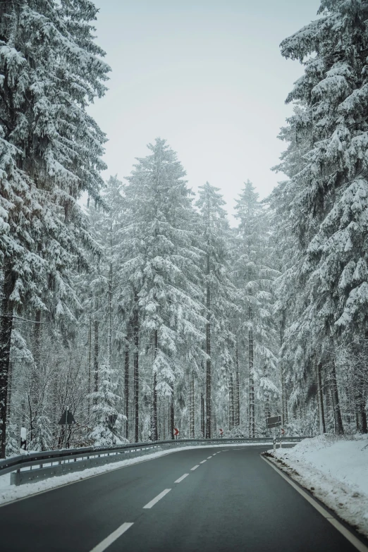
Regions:
M 262 450 L 181 450 L 4 505 L 0 550 L 356 552 Z

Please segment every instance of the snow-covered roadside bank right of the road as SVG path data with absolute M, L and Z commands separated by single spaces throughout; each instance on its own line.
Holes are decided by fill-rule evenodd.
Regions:
M 290 477 L 368 536 L 368 436 L 321 435 L 266 453 Z

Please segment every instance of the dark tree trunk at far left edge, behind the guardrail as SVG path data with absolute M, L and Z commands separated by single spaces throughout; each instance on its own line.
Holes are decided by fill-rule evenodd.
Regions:
M 15 275 L 11 269 L 4 267 L 4 285 L 0 319 L 0 458 L 5 458 L 6 448 L 8 374 L 11 352 L 11 331 L 13 329 L 13 305 L 10 298 L 15 280 Z

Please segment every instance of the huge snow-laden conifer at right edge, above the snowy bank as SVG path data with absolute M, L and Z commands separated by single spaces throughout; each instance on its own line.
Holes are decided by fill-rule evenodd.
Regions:
M 284 40 L 281 51 L 305 66 L 288 97 L 305 106 L 298 125 L 307 119 L 312 127 L 305 167 L 293 177 L 298 189 L 293 222 L 302 239 L 308 317 L 314 338 L 324 338 L 336 431 L 341 433 L 333 351 L 341 335 L 348 340 L 363 336 L 368 321 L 368 6 L 323 0 L 319 13 L 319 20 Z

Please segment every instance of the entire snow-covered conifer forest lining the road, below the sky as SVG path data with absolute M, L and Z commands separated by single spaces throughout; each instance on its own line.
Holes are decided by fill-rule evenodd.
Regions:
M 278 185 L 259 199 L 244 166 L 235 223 L 170 136 L 102 177 L 96 18 L 0 2 L 0 457 L 21 427 L 35 451 L 269 436 L 276 415 L 367 433 L 368 1 L 321 0 L 281 43 L 301 76 Z

